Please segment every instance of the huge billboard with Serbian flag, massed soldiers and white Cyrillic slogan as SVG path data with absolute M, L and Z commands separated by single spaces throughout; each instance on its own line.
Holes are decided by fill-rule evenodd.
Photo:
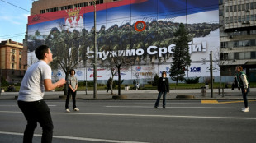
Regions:
M 220 48 L 218 7 L 218 0 L 121 0 L 98 4 L 97 79 L 110 77 L 105 66 L 109 57 L 134 59 L 133 66 L 122 70 L 122 79 L 151 78 L 168 71 L 175 48 L 173 34 L 180 23 L 186 25 L 191 38 L 192 64 L 186 76 L 209 76 L 210 51 L 218 53 Z M 54 56 L 61 54 L 64 47 L 69 53 L 74 51 L 75 59 L 83 59 L 77 67 L 78 80 L 92 80 L 94 7 L 29 16 L 29 54 L 40 44 L 49 45 Z M 59 75 L 64 74 L 61 72 Z M 219 71 L 214 71 L 214 76 L 219 76 Z

